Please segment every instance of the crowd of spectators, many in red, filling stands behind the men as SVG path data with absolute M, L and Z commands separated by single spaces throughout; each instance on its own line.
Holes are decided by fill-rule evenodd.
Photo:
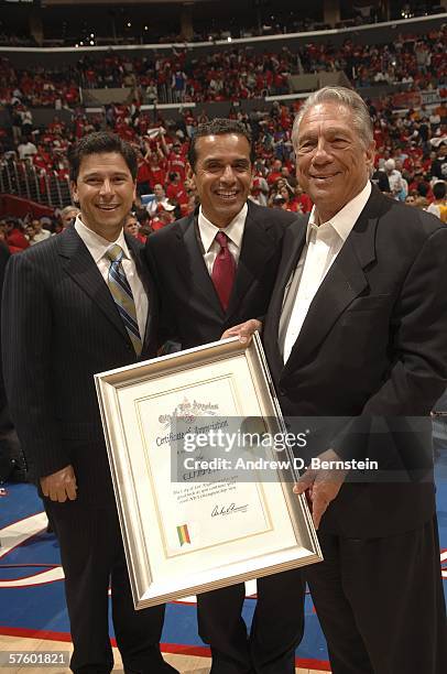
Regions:
M 102 128 L 110 129 L 132 143 L 139 156 L 138 194 L 134 217 L 140 236 L 148 236 L 173 219 L 190 213 L 196 204 L 193 184 L 187 176 L 188 141 L 197 123 L 207 120 L 185 107 L 179 120 L 163 118 L 160 109 L 142 109 L 142 99 L 160 100 L 171 89 L 176 100 L 232 101 L 230 117 L 250 127 L 255 144 L 255 175 L 251 198 L 259 204 L 293 211 L 308 211 L 312 204 L 295 181 L 291 130 L 299 101 L 271 110 L 241 112 L 237 101 L 263 98 L 266 94 L 288 91 L 293 73 L 345 70 L 353 86 L 403 83 L 411 89 L 436 89 L 440 100 L 447 96 L 447 26 L 423 36 L 399 35 L 389 45 L 359 45 L 347 40 L 340 47 L 327 41 L 309 43 L 304 48 L 288 47 L 277 52 L 229 47 L 206 53 L 175 50 L 132 57 L 117 52 L 94 57 L 83 56 L 76 65 L 47 69 L 42 66 L 21 69 L 7 58 L 0 61 L 0 110 L 10 118 L 9 129 L 0 129 L 0 180 L 13 164 L 14 180 L 28 176 L 34 185 L 32 198 L 45 202 L 48 185 L 57 187 L 59 206 L 69 204 L 67 152 L 80 137 Z M 108 105 L 102 113 L 86 115 L 79 105 L 79 86 L 120 87 L 132 90 L 128 105 Z M 284 102 L 284 101 L 283 101 Z M 34 123 L 33 108 L 55 108 L 50 124 Z M 58 108 L 72 110 L 72 121 L 64 122 Z M 394 198 L 423 208 L 445 213 L 440 187 L 446 181 L 445 102 L 410 108 L 396 115 L 393 97 L 370 101 L 374 120 L 377 171 L 373 180 Z M 30 173 L 31 172 L 31 173 Z M 32 174 L 33 181 L 29 180 Z M 50 181 L 50 182 L 48 182 Z M 4 189 L 8 192 L 8 186 Z M 4 185 L 4 182 L 3 182 Z M 12 185 L 13 187 L 13 185 Z M 13 189 L 11 189 L 13 192 Z M 54 202 L 46 198 L 46 203 Z M 48 227 L 46 222 L 44 228 Z M 50 230 L 57 231 L 58 222 Z M 25 222 L 30 243 L 32 221 Z M 7 236 L 7 235 L 4 235 Z M 15 243 L 12 247 L 17 248 Z

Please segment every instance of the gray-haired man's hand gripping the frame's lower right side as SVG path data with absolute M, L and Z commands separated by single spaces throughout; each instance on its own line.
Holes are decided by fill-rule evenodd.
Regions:
M 318 456 L 321 461 L 337 461 L 340 457 L 328 449 Z M 307 502 L 312 511 L 315 529 L 318 529 L 323 515 L 326 512 L 330 501 L 337 497 L 341 485 L 345 481 L 347 470 L 344 469 L 325 469 L 318 470 L 308 468 L 293 488 L 294 493 L 306 492 Z

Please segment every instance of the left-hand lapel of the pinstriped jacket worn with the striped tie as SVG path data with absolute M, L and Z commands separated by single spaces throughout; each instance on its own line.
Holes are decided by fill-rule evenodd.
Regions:
M 95 302 L 110 324 L 130 343 L 107 283 L 101 276 L 87 247 L 74 227 L 68 227 L 59 237 L 59 254 L 67 274 Z M 130 343 L 131 344 L 131 343 Z

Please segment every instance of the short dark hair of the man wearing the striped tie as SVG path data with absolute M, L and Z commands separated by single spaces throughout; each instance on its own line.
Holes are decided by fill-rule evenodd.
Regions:
M 72 148 L 68 153 L 69 180 L 76 183 L 80 162 L 85 156 L 102 152 L 118 152 L 118 154 L 121 154 L 132 175 L 132 180 L 137 180 L 138 163 L 133 148 L 116 133 L 108 131 L 95 131 L 95 133 L 84 135 Z

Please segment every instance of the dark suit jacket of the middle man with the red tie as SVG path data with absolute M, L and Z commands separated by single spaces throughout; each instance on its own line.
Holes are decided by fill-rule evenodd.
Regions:
M 146 260 L 162 303 L 163 335 L 184 349 L 220 339 L 228 328 L 265 313 L 285 228 L 297 216 L 248 203 L 242 247 L 224 312 L 198 243 L 197 211 L 148 238 Z

